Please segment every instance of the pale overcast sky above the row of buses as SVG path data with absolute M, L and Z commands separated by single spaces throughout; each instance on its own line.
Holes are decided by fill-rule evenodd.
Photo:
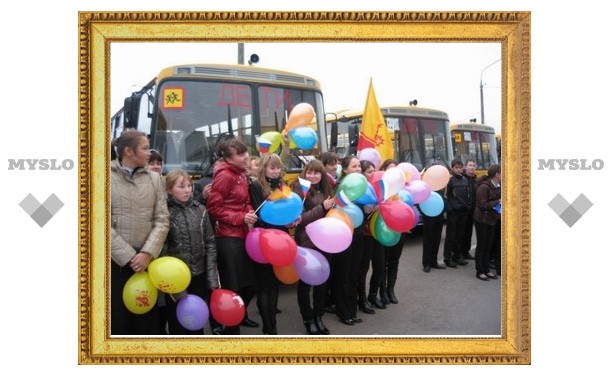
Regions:
M 480 121 L 501 130 L 499 43 L 246 43 L 245 61 L 311 76 L 321 83 L 325 111 L 363 109 L 372 78 L 383 106 L 418 105 L 448 113 L 451 123 Z M 111 114 L 164 67 L 238 61 L 237 43 L 111 44 Z

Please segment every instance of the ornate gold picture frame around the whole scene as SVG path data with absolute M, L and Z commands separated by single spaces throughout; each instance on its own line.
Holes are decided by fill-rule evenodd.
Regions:
M 79 363 L 529 364 L 530 18 L 485 11 L 79 13 Z M 109 337 L 110 42 L 270 40 L 502 44 L 501 338 Z

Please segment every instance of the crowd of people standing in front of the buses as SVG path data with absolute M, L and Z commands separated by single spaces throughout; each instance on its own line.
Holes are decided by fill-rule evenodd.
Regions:
M 369 222 L 364 221 L 354 229 L 350 246 L 332 254 L 317 248 L 306 232 L 309 224 L 334 208 L 336 188 L 342 179 L 352 173 L 369 178 L 377 171 L 373 162 L 352 155 L 339 159 L 325 152 L 309 161 L 300 173 L 300 179 L 310 182 L 310 189 L 304 193 L 299 180 L 283 180 L 289 156 L 286 134 L 280 156 L 266 153 L 251 158 L 242 142 L 230 139 L 221 143 L 213 176 L 195 183 L 181 169 L 173 169 L 162 178 L 162 157 L 150 149 L 144 133 L 125 131 L 113 142 L 113 148 L 111 334 L 204 334 L 204 328 L 187 330 L 178 321 L 176 301 L 180 295 L 160 295 L 157 306 L 141 315 L 131 313 L 123 304 L 126 281 L 135 272 L 146 271 L 148 264 L 160 256 L 184 261 L 191 272 L 186 292 L 206 302 L 217 288 L 237 293 L 246 308 L 255 299 L 262 334 L 278 334 L 281 282 L 270 264 L 253 261 L 246 251 L 245 239 L 254 227 L 286 232 L 297 245 L 320 252 L 329 263 L 330 275 L 325 282 L 309 285 L 299 280 L 296 285 L 296 305 L 307 334 L 330 334 L 324 321 L 326 314 L 335 314 L 341 323 L 354 326 L 362 322 L 358 310 L 372 315 L 399 302 L 395 286 L 401 279 L 398 268 L 404 235 L 393 246 L 382 245 L 369 229 Z M 397 165 L 390 159 L 378 169 Z M 472 259 L 478 279 L 487 281 L 501 275 L 501 169 L 491 166 L 487 177 L 478 180 L 475 168 L 473 160 L 466 162 L 465 169 L 462 161 L 454 160 L 448 185 L 439 192 L 445 198 L 444 211 L 437 216 L 422 215 L 424 272 L 465 266 Z M 303 197 L 303 212 L 290 224 L 269 224 L 256 210 L 273 191 L 285 187 Z M 366 219 L 378 210 L 378 205 L 359 207 Z M 442 264 L 437 255 L 444 224 Z M 473 228 L 475 256 L 470 255 Z M 242 326 L 260 326 L 248 311 L 239 325 L 219 324 L 212 315 L 209 322 L 216 335 L 239 335 Z

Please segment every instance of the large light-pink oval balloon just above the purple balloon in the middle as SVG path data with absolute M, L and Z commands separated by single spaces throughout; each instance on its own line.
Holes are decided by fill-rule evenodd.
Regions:
M 328 253 L 346 250 L 353 240 L 353 230 L 337 218 L 320 218 L 306 225 L 306 234 L 314 245 Z

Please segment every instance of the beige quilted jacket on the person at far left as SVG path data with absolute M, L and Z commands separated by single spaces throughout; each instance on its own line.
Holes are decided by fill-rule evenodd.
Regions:
M 111 259 L 120 266 L 136 253 L 159 256 L 168 234 L 168 206 L 161 177 L 148 167 L 132 175 L 111 162 Z

